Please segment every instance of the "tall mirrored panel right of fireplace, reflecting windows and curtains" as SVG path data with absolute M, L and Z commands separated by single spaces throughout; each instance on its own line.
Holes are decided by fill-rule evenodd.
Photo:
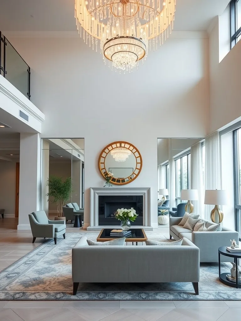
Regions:
M 181 216 L 180 203 L 187 203 L 182 190 L 197 190 L 192 196 L 195 213 L 204 206 L 205 143 L 203 138 L 159 138 L 157 140 L 158 224 L 160 215 Z M 195 199 L 196 198 L 196 199 Z M 194 200 L 195 199 L 195 200 Z M 177 209 L 178 208 L 178 209 Z

